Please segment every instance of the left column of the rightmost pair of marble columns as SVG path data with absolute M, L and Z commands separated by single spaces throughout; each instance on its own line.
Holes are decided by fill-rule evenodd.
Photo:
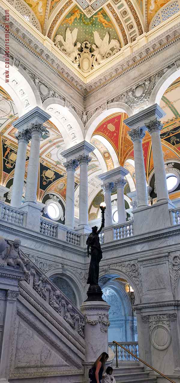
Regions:
M 134 144 L 135 182 L 137 191 L 137 207 L 148 206 L 147 185 L 145 177 L 144 155 L 142 139 L 145 136 L 144 129 L 137 128 L 128 132 Z

